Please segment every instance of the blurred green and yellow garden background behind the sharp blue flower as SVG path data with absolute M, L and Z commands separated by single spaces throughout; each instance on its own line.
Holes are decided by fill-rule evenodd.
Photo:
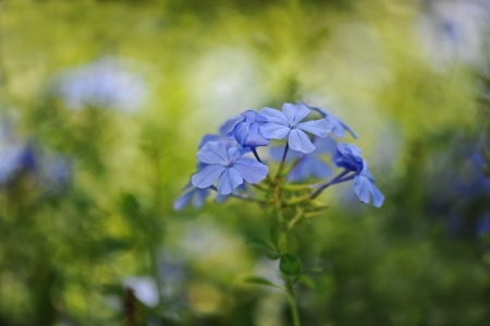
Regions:
M 0 325 L 290 325 L 269 220 L 174 212 L 200 137 L 305 100 L 387 200 L 328 191 L 304 325 L 490 325 L 490 1 L 0 1 Z

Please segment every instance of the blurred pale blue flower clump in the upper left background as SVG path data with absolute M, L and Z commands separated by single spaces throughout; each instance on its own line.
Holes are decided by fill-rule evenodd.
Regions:
M 147 97 L 147 85 L 126 65 L 120 59 L 102 58 L 69 69 L 56 79 L 53 93 L 70 109 L 98 107 L 136 111 Z

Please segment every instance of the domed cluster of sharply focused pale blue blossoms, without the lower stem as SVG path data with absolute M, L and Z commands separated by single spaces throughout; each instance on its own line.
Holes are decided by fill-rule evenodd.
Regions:
M 336 141 L 347 133 L 357 138 L 341 120 L 304 102 L 284 104 L 282 111 L 273 108 L 258 112 L 247 110 L 228 120 L 218 134 L 203 137 L 197 171 L 174 202 L 174 208 L 182 209 L 191 202 L 200 207 L 210 191 L 218 193 L 218 200 L 233 196 L 268 204 L 274 201 L 271 197 L 274 190 L 278 193 L 278 189 L 298 189 L 299 192 L 290 193 L 290 202 L 286 195 L 281 196 L 281 201 L 285 201 L 283 205 L 311 202 L 328 186 L 350 180 L 354 180 L 354 191 L 360 202 L 372 200 L 372 204 L 380 207 L 384 196 L 375 185 L 360 149 Z M 278 141 L 283 144 L 278 146 Z M 257 148 L 266 146 L 270 146 L 268 158 L 277 162 L 275 169 L 258 154 Z M 327 156 L 333 167 L 341 169 L 336 177 L 331 178 Z M 265 195 L 250 194 L 250 185 Z

